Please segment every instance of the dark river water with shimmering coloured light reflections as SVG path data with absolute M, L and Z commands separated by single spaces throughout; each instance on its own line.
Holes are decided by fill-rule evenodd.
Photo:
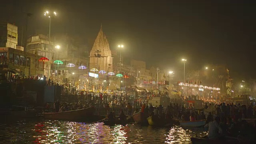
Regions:
M 184 129 L 180 126 L 105 126 L 99 123 L 67 122 L 58 120 L 16 121 L 0 124 L 3 144 L 73 143 L 73 144 L 190 144 L 191 136 L 205 136 L 201 128 Z

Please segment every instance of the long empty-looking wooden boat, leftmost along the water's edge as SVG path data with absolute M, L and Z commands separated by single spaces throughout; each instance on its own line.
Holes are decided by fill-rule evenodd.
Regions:
M 95 108 L 84 108 L 66 112 L 44 113 L 44 118 L 57 120 L 86 120 L 94 114 Z

